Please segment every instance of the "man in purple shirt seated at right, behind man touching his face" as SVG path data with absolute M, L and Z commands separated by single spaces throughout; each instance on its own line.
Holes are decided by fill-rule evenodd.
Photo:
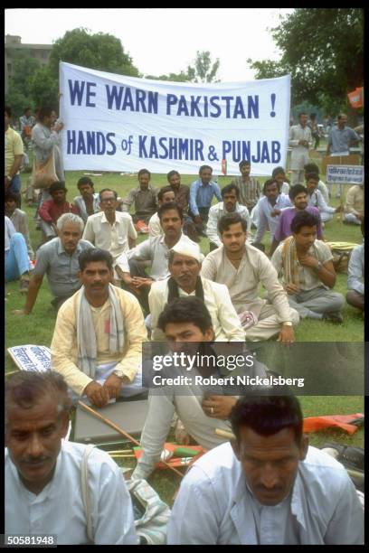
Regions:
M 299 211 L 307 211 L 317 217 L 317 238 L 323 239 L 320 213 L 316 207 L 307 204 L 307 188 L 302 184 L 295 184 L 289 190 L 289 200 L 294 207 L 286 208 L 280 213 L 278 226 L 270 246 L 270 257 L 278 247 L 279 242 L 291 236 L 291 221 Z

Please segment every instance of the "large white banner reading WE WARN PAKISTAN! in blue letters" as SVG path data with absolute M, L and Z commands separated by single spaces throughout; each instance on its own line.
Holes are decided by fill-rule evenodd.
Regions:
M 286 167 L 290 77 L 232 83 L 137 79 L 60 63 L 65 169 L 254 175 Z

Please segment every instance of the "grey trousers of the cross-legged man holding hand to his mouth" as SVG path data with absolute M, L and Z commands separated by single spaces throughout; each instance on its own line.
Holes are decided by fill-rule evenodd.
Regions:
M 323 286 L 312 290 L 303 290 L 299 294 L 288 295 L 289 305 L 296 309 L 301 319 L 308 316 L 309 311 L 315 313 L 335 313 L 345 304 L 345 298 L 338 292 L 326 290 Z

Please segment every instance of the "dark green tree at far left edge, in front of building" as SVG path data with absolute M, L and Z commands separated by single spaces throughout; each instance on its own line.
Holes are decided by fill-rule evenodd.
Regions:
M 34 109 L 36 107 L 31 80 L 39 69 L 40 63 L 32 57 L 28 50 L 13 52 L 12 58 L 13 71 L 9 78 L 5 102 L 12 108 L 14 118 L 16 118 L 23 115 L 24 108 Z

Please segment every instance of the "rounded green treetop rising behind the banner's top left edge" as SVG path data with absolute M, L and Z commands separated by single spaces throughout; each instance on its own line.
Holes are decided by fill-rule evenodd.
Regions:
M 55 79 L 59 78 L 59 61 L 138 77 L 138 70 L 124 52 L 122 43 L 108 33 L 89 34 L 81 28 L 68 31 L 52 46 L 49 67 Z

